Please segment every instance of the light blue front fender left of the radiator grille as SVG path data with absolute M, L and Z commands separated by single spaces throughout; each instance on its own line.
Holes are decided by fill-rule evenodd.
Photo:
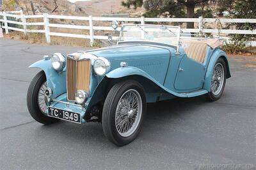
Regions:
M 66 72 L 56 72 L 51 65 L 51 59 L 43 59 L 33 63 L 29 68 L 40 68 L 47 79 L 47 87 L 52 89 L 52 97 L 56 98 L 67 92 Z

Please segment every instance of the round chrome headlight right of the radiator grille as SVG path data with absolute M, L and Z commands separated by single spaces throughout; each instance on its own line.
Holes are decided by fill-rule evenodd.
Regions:
M 97 75 L 102 76 L 108 73 L 109 69 L 110 69 L 110 63 L 108 59 L 100 57 L 96 59 L 96 61 L 94 61 L 93 70 Z

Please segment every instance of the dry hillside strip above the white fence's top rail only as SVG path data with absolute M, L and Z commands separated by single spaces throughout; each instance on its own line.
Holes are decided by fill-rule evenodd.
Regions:
M 33 5 L 31 5 L 31 2 Z M 55 15 L 101 16 L 111 13 L 129 13 L 141 15 L 143 8 L 137 10 L 122 6 L 122 0 L 92 0 L 70 3 L 67 0 L 10 0 L 4 3 L 1 10 L 23 10 L 26 15 L 52 13 Z M 56 9 L 55 9 L 56 8 Z

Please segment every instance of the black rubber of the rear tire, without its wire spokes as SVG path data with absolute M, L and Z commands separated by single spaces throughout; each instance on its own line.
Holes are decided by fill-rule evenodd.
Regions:
M 223 65 L 223 68 L 224 68 L 224 80 L 223 80 L 224 82 L 223 82 L 222 89 L 221 89 L 221 91 L 220 91 L 220 93 L 219 93 L 218 95 L 214 95 L 214 94 L 212 93 L 212 91 L 210 91 L 209 93 L 207 93 L 207 94 L 205 95 L 205 97 L 207 98 L 207 100 L 209 100 L 209 101 L 211 101 L 211 102 L 214 102 L 214 101 L 219 100 L 219 99 L 221 98 L 221 95 L 222 95 L 223 90 L 224 90 L 224 88 L 225 88 L 226 79 L 227 79 L 227 66 L 226 66 L 226 63 L 225 63 L 224 59 L 223 59 L 223 58 L 219 58 L 219 59 L 216 61 L 216 63 L 215 63 L 214 66 L 216 66 L 218 63 L 221 63 L 221 65 Z

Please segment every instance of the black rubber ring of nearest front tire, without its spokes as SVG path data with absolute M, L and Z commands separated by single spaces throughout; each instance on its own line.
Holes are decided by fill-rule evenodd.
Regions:
M 138 125 L 138 128 L 134 131 L 134 133 L 128 137 L 122 137 L 118 134 L 115 125 L 115 112 L 116 106 L 118 105 L 119 99 L 128 89 L 135 89 L 140 93 L 142 100 L 142 115 L 141 120 Z M 136 81 L 123 81 L 115 84 L 109 91 L 108 96 L 105 100 L 103 111 L 102 111 L 102 128 L 106 137 L 111 141 L 111 143 L 116 144 L 117 146 L 124 146 L 125 144 L 129 144 L 140 133 L 141 123 L 143 122 L 143 118 L 145 116 L 147 109 L 147 102 L 145 97 L 145 92 L 140 83 Z

